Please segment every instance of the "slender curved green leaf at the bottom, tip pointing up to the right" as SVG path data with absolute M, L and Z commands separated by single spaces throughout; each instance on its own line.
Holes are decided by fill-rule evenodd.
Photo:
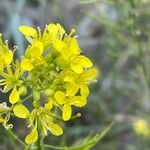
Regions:
M 103 130 L 102 133 L 97 134 L 93 138 L 89 139 L 88 141 L 82 143 L 78 146 L 72 147 L 58 147 L 53 145 L 44 145 L 45 148 L 53 148 L 55 150 L 90 150 L 97 142 L 99 142 L 112 128 L 114 122 L 112 122 L 106 129 Z

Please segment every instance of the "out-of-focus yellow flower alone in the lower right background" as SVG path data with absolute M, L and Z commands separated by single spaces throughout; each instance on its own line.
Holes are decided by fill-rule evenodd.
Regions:
M 134 131 L 138 135 L 150 136 L 150 127 L 143 119 L 139 119 L 134 123 Z

